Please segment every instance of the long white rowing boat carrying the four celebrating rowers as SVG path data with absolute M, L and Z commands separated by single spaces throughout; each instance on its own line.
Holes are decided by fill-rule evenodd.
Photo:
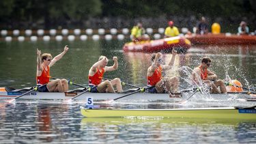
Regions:
M 2 89 L 0 91 L 0 99 L 10 99 L 10 98 L 16 98 L 23 93 L 26 93 L 26 91 L 29 91 L 31 88 L 27 89 L 12 89 L 12 91 L 6 91 L 5 89 Z M 30 93 L 27 93 L 25 96 L 18 98 L 18 99 L 30 99 L 30 100 L 66 100 L 74 98 L 74 96 L 77 96 L 79 93 L 83 92 L 84 88 L 74 89 L 72 91 L 66 92 L 66 93 L 59 93 L 59 92 L 38 92 L 38 91 L 32 91 Z M 113 100 L 115 98 L 119 98 L 121 96 L 125 96 L 128 93 L 132 93 L 134 91 L 137 91 L 138 89 L 129 89 L 128 91 L 125 91 L 124 93 L 90 93 L 86 92 L 83 93 L 81 96 L 75 98 L 74 100 L 86 100 L 87 97 L 94 98 L 95 101 L 102 101 L 102 100 Z M 193 91 L 193 89 L 190 89 Z M 188 91 L 187 91 L 188 92 Z M 187 93 L 188 94 L 188 93 Z M 203 95 L 200 92 L 195 93 L 195 98 L 197 99 L 207 99 L 207 98 L 214 98 L 214 100 L 229 100 L 230 98 L 237 98 L 242 100 L 250 100 L 254 101 L 256 100 L 255 96 L 251 96 L 251 94 L 248 94 L 246 91 L 242 92 L 231 92 L 228 94 L 209 94 L 209 95 Z M 183 100 L 186 99 L 186 94 L 183 94 L 183 98 L 181 93 L 177 94 L 175 98 L 173 96 L 169 96 L 169 93 L 148 93 L 145 92 L 139 92 L 134 93 L 130 96 L 126 96 L 125 98 L 122 98 L 120 100 Z

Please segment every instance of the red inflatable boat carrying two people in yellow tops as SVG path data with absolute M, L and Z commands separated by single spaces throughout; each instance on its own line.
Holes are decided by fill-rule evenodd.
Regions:
M 160 40 L 150 40 L 142 42 L 128 42 L 124 44 L 123 50 L 125 52 L 143 52 L 143 53 L 156 53 L 165 52 L 169 53 L 173 48 L 177 49 L 177 53 L 185 53 L 191 47 L 190 41 L 180 36 L 171 38 L 163 38 Z

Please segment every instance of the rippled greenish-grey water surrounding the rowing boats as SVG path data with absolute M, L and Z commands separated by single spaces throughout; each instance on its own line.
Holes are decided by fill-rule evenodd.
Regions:
M 0 87 L 35 85 L 36 48 L 53 56 L 68 44 L 70 51 L 51 68 L 51 76 L 87 84 L 88 70 L 100 55 L 117 56 L 119 70 L 105 77 L 120 77 L 126 83 L 145 86 L 150 55 L 123 53 L 123 41 L 74 42 L 0 42 Z M 213 59 L 211 70 L 219 78 L 228 74 L 244 86 L 255 87 L 256 46 L 193 46 L 186 55 L 177 55 L 175 68 L 167 76 L 180 76 L 186 82 L 190 68 L 201 57 Z M 170 55 L 164 55 L 169 61 Z M 113 61 L 109 61 L 112 65 Z M 73 86 L 70 88 L 74 88 Z M 128 89 L 129 87 L 125 87 Z M 256 143 L 255 121 L 214 119 L 86 119 L 79 111 L 85 102 L 66 104 L 61 101 L 0 102 L 0 143 Z M 168 102 L 114 102 L 118 108 L 171 108 L 202 106 L 253 106 L 256 102 L 196 101 L 184 105 Z

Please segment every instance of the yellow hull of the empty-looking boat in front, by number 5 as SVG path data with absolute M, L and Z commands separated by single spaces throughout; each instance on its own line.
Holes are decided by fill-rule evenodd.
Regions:
M 164 117 L 189 119 L 253 119 L 255 109 L 202 108 L 202 109 L 84 109 L 84 117 Z

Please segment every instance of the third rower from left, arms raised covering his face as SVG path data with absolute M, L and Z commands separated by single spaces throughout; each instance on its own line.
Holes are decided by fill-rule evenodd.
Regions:
M 169 92 L 172 96 L 172 93 L 177 92 L 177 87 L 179 83 L 179 78 L 177 76 L 173 76 L 171 78 L 164 77 L 162 78 L 162 71 L 170 70 L 173 68 L 173 64 L 175 61 L 175 55 L 177 51 L 174 49 L 171 51 L 172 57 L 171 61 L 169 61 L 168 65 L 161 65 L 161 53 L 156 53 L 152 55 L 151 61 L 152 65 L 147 69 L 147 86 L 149 88 L 150 93 L 165 93 Z

